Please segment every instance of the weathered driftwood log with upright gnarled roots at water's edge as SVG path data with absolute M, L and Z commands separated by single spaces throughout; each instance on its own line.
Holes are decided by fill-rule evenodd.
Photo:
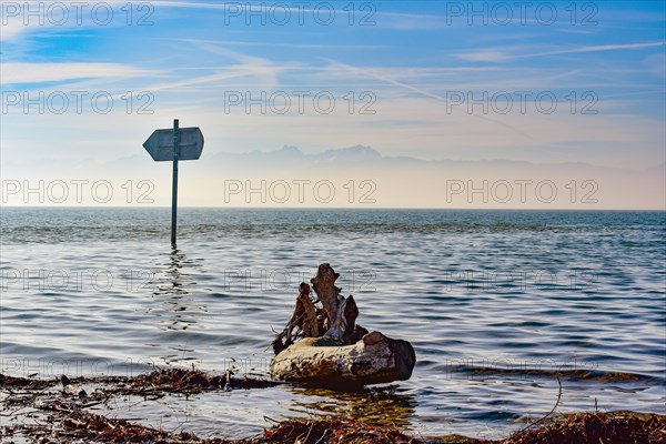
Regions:
M 408 380 L 416 362 L 412 345 L 357 325 L 356 302 L 340 294 L 337 278 L 330 264 L 319 266 L 311 280 L 315 301 L 310 285 L 300 285 L 294 313 L 273 341 L 272 377 L 320 385 Z

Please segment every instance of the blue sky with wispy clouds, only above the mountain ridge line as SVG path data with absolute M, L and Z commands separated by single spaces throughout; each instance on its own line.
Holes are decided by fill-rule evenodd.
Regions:
M 363 144 L 426 160 L 658 168 L 665 4 L 3 1 L 2 173 L 93 159 L 85 173 L 103 176 L 108 162 L 150 161 L 141 143 L 173 118 L 202 128 L 204 154 Z

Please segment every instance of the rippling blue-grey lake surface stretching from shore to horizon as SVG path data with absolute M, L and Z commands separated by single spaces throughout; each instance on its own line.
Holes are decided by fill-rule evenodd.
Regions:
M 320 263 L 410 381 L 127 400 L 105 414 L 250 436 L 330 414 L 498 437 L 551 411 L 666 413 L 664 212 L 21 209 L 1 215 L 1 372 L 265 374 Z

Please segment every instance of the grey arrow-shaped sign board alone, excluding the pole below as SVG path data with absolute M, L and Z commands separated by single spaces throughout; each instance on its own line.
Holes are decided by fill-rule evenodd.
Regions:
M 199 127 L 179 130 L 178 160 L 196 160 L 203 150 L 203 134 Z M 143 143 L 155 162 L 173 160 L 173 130 L 155 130 Z

